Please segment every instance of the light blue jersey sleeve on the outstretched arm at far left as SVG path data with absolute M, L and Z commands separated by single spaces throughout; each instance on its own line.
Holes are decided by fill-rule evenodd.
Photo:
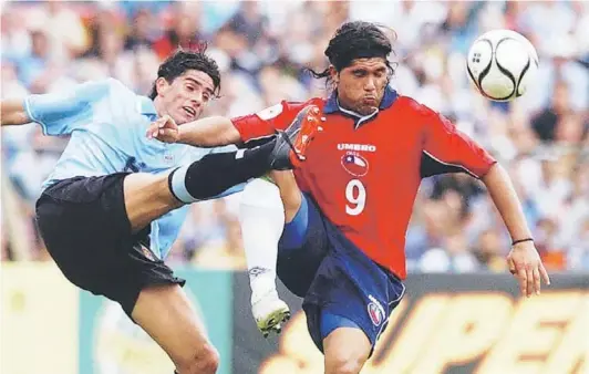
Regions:
M 29 95 L 24 108 L 43 134 L 68 135 L 91 122 L 94 104 L 108 94 L 110 86 L 106 80 L 82 83 L 70 91 Z

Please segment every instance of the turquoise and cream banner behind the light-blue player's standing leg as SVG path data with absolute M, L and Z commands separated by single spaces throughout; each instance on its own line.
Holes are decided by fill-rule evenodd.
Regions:
M 218 374 L 231 373 L 231 273 L 177 269 L 184 289 L 205 321 L 213 344 L 223 357 Z M 80 373 L 172 374 L 174 365 L 164 351 L 105 298 L 80 297 Z

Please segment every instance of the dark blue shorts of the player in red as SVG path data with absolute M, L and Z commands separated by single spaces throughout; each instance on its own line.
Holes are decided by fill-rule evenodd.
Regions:
M 278 277 L 304 298 L 309 333 L 321 352 L 323 339 L 341 326 L 356 326 L 374 346 L 405 292 L 399 278 L 347 239 L 306 195 L 280 238 Z

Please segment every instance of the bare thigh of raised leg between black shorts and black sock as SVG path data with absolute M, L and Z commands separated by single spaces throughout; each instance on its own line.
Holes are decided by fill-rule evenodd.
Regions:
M 182 206 L 169 191 L 167 174 L 130 174 L 125 177 L 123 188 L 125 209 L 133 232 Z

